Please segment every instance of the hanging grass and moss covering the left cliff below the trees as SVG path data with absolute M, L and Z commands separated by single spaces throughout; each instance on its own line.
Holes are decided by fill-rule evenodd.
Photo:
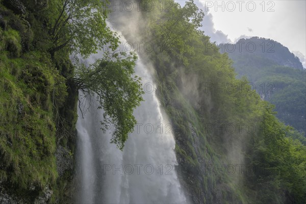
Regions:
M 28 191 L 32 195 L 55 185 L 58 176 L 51 99 L 57 96 L 55 103 L 62 103 L 66 88 L 58 85 L 65 85 L 65 79 L 41 53 L 7 56 L 0 55 L 1 182 L 27 197 Z

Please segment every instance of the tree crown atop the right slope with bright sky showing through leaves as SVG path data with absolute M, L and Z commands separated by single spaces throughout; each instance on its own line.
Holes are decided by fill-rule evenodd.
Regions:
M 202 33 L 197 28 L 201 27 L 203 17 L 203 11 L 197 8 L 193 0 L 187 1 L 183 8 L 173 3 L 171 10 L 154 27 L 160 49 L 156 52 L 170 52 L 188 64 L 185 54 L 194 52 L 190 45 L 194 40 L 191 36 Z

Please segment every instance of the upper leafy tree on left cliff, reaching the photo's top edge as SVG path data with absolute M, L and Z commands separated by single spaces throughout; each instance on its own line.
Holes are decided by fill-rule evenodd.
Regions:
M 49 52 L 54 54 L 63 47 L 69 47 L 70 52 L 88 57 L 106 44 L 113 49 L 119 39 L 115 32 L 107 26 L 106 18 L 109 10 L 105 4 L 108 1 L 92 0 L 61 0 L 50 2 L 55 4 L 58 16 L 50 18 L 47 23 L 51 38 Z M 55 11 L 50 11 L 54 15 Z

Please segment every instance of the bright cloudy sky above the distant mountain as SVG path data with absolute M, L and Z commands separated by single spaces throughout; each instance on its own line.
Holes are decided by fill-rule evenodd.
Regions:
M 184 0 L 175 1 L 181 6 Z M 194 1 L 205 12 L 201 30 L 211 41 L 236 42 L 252 36 L 288 47 L 305 68 L 306 1 Z

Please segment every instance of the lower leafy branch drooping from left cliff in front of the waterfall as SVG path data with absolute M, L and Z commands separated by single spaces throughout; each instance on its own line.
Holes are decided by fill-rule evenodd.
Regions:
M 99 108 L 104 109 L 103 130 L 114 124 L 111 143 L 123 149 L 127 134 L 133 131 L 136 119 L 133 110 L 142 101 L 141 82 L 133 77 L 137 56 L 135 53 L 105 53 L 104 57 L 86 67 L 77 69 L 75 82 L 85 95 L 95 95 Z

